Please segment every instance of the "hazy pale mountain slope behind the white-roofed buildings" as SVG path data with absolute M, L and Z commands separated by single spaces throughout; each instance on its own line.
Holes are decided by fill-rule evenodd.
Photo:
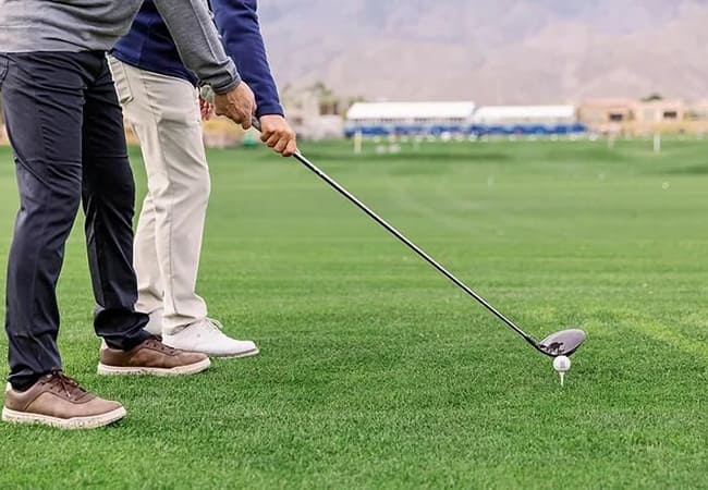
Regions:
M 389 99 L 708 97 L 708 0 L 263 0 L 281 85 Z

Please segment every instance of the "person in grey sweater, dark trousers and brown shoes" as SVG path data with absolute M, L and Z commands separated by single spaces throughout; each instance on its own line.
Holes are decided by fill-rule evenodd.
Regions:
M 108 348 L 99 373 L 180 375 L 206 369 L 203 354 L 161 344 L 136 313 L 132 266 L 134 183 L 123 119 L 106 60 L 141 0 L 0 0 L 0 90 L 14 150 L 20 211 L 10 250 L 10 376 L 2 418 L 64 428 L 125 415 L 62 372 L 56 286 L 80 201 Z M 204 0 L 155 0 L 185 63 L 218 94 L 217 113 L 251 125 L 255 100 L 219 41 Z

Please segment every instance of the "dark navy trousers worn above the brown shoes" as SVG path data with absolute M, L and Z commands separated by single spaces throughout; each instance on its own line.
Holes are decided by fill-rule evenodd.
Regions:
M 21 201 L 5 330 L 9 380 L 22 390 L 61 369 L 56 287 L 82 200 L 96 333 L 130 350 L 147 339 L 147 316 L 134 310 L 135 187 L 105 53 L 0 52 L 0 91 Z

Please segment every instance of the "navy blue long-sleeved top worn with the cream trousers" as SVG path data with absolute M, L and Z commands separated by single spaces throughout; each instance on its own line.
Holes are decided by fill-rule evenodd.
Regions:
M 210 0 L 210 3 L 227 53 L 256 95 L 256 115 L 283 115 L 260 34 L 257 0 Z M 143 3 L 131 32 L 118 41 L 112 54 L 141 70 L 176 76 L 194 85 L 198 82 L 182 63 L 172 36 L 151 0 Z

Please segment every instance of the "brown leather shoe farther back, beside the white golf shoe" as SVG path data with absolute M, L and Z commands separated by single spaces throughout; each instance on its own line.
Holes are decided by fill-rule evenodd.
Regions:
M 151 336 L 131 351 L 101 348 L 99 375 L 152 375 L 180 376 L 196 375 L 207 369 L 211 363 L 204 354 L 178 351 L 168 347 Z

